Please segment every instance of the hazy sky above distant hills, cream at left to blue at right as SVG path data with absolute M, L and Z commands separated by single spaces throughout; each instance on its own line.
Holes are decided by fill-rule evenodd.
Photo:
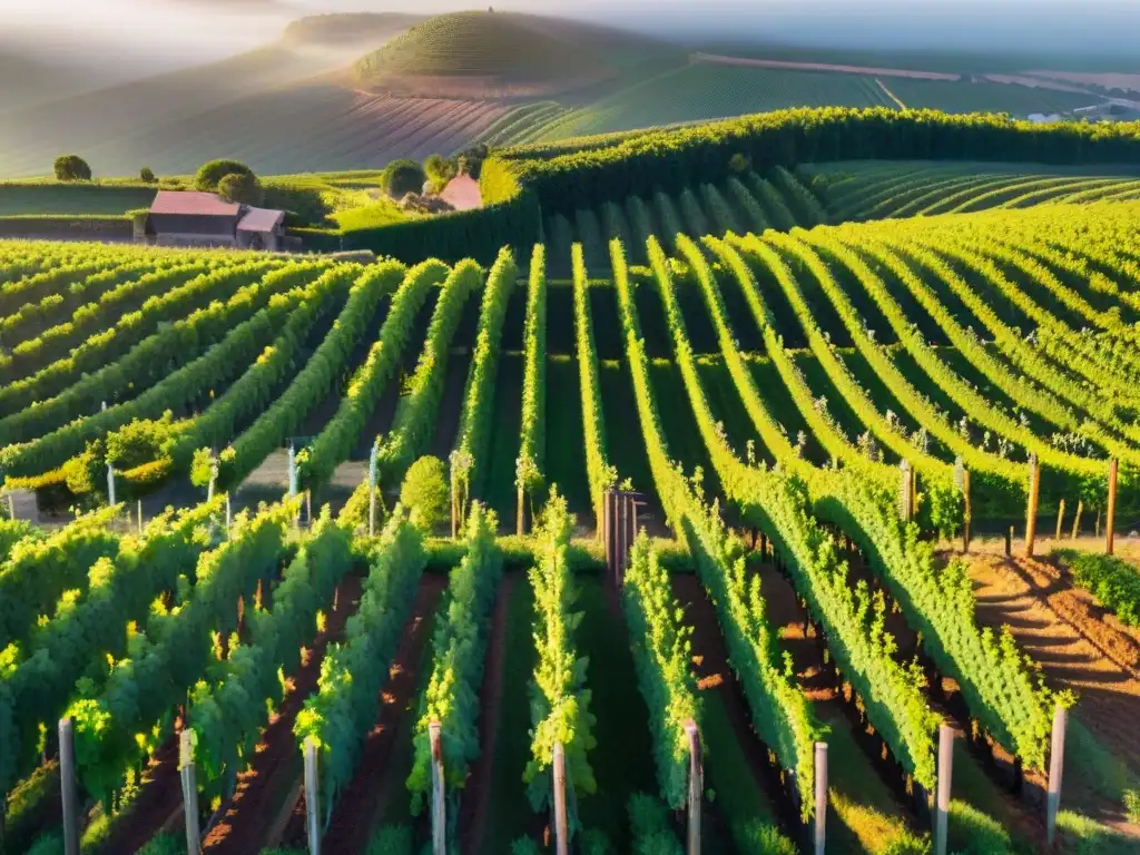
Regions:
M 1140 0 L 0 0 L 0 46 L 149 73 L 271 41 L 319 11 L 486 8 L 572 15 L 689 38 L 801 46 L 1135 54 Z M 79 46 L 85 46 L 82 54 Z

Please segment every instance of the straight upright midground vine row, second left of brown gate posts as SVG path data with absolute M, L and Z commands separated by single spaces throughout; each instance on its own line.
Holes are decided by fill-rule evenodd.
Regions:
M 543 244 L 535 245 L 530 258 L 522 357 L 522 427 L 515 470 L 520 498 L 527 494 L 534 500 L 543 486 L 546 451 L 546 247 Z M 520 506 L 520 521 L 522 513 Z

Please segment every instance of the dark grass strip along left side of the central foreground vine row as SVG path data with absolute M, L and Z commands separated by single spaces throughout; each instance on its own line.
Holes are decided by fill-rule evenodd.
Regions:
M 488 799 L 482 848 L 483 855 L 511 850 L 511 841 L 528 825 L 527 787 L 522 771 L 530 758 L 530 700 L 528 685 L 534 674 L 535 644 L 530 637 L 535 596 L 526 575 L 519 577 L 507 602 L 503 697 L 496 725 L 495 768 Z

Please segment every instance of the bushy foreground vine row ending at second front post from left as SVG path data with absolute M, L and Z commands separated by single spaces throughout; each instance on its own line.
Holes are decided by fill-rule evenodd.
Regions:
M 351 537 L 328 508 L 301 544 L 272 589 L 269 611 L 246 606 L 247 642 L 231 644 L 226 660 L 189 693 L 187 716 L 194 727 L 198 789 L 209 798 L 233 783 L 261 736 L 266 716 L 282 701 L 280 675 L 301 667 L 301 649 L 352 569 Z

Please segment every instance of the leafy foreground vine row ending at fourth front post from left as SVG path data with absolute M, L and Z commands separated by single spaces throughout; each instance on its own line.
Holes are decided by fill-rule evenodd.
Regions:
M 466 785 L 471 763 L 479 757 L 479 689 L 483 681 L 491 610 L 503 580 L 503 553 L 495 543 L 494 511 L 474 503 L 464 527 L 466 555 L 451 570 L 445 616 L 432 638 L 432 670 L 414 736 L 415 759 L 407 785 L 413 812 L 431 792 L 431 741 L 427 725 L 440 724 L 443 771 L 449 787 Z

